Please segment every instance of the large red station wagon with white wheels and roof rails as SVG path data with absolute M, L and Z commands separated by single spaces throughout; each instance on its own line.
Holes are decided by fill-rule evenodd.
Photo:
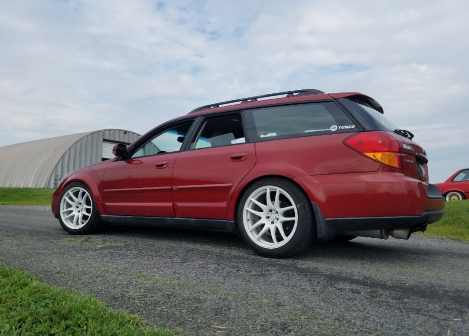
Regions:
M 52 212 L 72 234 L 109 223 L 229 231 L 268 257 L 312 241 L 408 239 L 445 207 L 412 138 L 361 93 L 202 106 L 66 175 Z

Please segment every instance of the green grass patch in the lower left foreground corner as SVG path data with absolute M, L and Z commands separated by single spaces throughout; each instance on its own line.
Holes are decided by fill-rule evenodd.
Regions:
M 172 336 L 89 295 L 41 283 L 0 264 L 0 336 Z

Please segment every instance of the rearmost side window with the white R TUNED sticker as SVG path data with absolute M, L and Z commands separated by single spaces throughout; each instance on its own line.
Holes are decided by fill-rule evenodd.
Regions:
M 333 102 L 276 106 L 245 113 L 251 119 L 249 133 L 254 141 L 357 131 Z

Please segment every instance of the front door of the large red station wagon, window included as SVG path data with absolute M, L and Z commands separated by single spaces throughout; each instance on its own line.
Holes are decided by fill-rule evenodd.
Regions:
M 172 174 L 193 120 L 158 129 L 111 163 L 103 176 L 106 214 L 174 217 Z

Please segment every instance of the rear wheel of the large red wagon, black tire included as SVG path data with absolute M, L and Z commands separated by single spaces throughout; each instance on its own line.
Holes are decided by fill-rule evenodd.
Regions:
M 250 185 L 239 201 L 237 221 L 246 244 L 265 257 L 303 252 L 314 232 L 309 198 L 299 186 L 281 178 Z

